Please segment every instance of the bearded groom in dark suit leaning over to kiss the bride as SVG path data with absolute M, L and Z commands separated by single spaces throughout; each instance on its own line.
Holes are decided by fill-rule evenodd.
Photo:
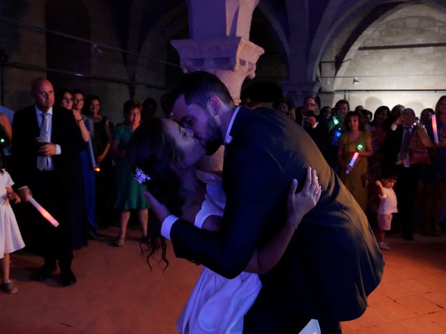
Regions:
M 260 276 L 263 287 L 245 316 L 244 333 L 295 334 L 312 318 L 322 333 L 340 333 L 339 321 L 366 309 L 384 264 L 351 193 L 301 127 L 272 109 L 236 107 L 213 74 L 187 74 L 171 97 L 176 120 L 194 130 L 207 154 L 225 145 L 221 232 L 199 230 L 151 198 L 176 256 L 226 278 L 237 276 L 285 221 L 291 180 L 303 184 L 311 166 L 321 199 L 302 219 L 279 263 Z

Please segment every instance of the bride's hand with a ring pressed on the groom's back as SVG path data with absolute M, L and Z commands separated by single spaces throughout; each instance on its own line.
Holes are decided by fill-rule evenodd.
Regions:
M 295 193 L 298 188 L 298 181 L 293 179 L 291 182 L 290 192 L 286 206 L 288 208 L 287 223 L 294 228 L 298 228 L 302 217 L 316 206 L 319 198 L 321 198 L 321 186 L 319 186 L 316 170 L 309 167 L 307 169 L 307 180 L 302 190 Z

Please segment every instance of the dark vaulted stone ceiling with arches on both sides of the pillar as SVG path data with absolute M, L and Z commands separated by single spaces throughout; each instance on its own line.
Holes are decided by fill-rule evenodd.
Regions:
M 72 7 L 73 3 L 78 3 L 77 9 Z M 321 85 L 323 89 L 334 90 L 330 86 L 332 81 L 327 84 L 321 80 L 324 73 L 329 72 L 332 77 L 345 74 L 346 62 L 352 50 L 360 47 L 358 40 L 364 38 L 365 31 L 370 31 L 367 29 L 401 8 L 417 4 L 443 16 L 446 13 L 443 0 L 260 0 L 252 17 L 250 40 L 266 49 L 266 53 L 259 59 L 256 80 L 282 84 L 289 93 L 293 89 L 302 94 L 316 93 Z M 45 19 L 34 18 L 45 17 L 45 12 L 56 18 L 47 21 L 47 26 Z M 213 23 L 211 14 L 209 24 Z M 124 76 L 130 82 L 146 82 L 146 86 L 152 85 L 160 93 L 180 76 L 178 54 L 170 40 L 189 38 L 190 19 L 184 0 L 3 0 L 0 15 L 109 45 L 121 55 L 98 52 L 81 63 L 74 63 L 70 58 L 63 59 L 61 52 L 56 63 L 66 64 L 66 70 L 72 72 L 82 72 L 80 67 L 92 75 L 107 73 Z M 67 26 L 68 19 L 64 17 L 76 23 L 74 28 Z M 0 24 L 4 27 L 9 23 Z M 8 33 L 10 40 L 7 40 Z M 2 38 L 6 42 L 1 46 L 10 51 L 10 60 L 14 59 L 14 52 L 23 49 L 17 29 L 3 30 Z M 48 43 L 47 59 L 52 54 L 51 38 Z M 18 58 L 22 61 L 26 57 Z M 129 87 L 130 96 L 138 96 L 142 92 L 138 87 L 143 86 L 130 84 Z M 110 88 L 106 90 L 95 82 L 87 83 L 85 89 L 105 92 Z

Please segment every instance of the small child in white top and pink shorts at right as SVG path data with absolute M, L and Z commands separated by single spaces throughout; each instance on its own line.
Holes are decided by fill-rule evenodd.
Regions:
M 390 250 L 390 247 L 384 242 L 385 231 L 390 230 L 392 214 L 398 212 L 397 195 L 393 190 L 396 182 L 397 176 L 393 173 L 383 173 L 381 180 L 376 181 L 376 185 L 379 187 L 378 197 L 380 200 L 376 212 L 376 222 L 378 223 L 376 239 L 379 248 L 382 250 Z

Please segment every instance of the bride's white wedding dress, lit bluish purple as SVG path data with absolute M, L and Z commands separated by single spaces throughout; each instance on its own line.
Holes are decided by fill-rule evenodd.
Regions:
M 206 182 L 206 196 L 194 225 L 201 228 L 208 216 L 223 216 L 226 198 L 222 179 L 217 175 L 197 172 Z M 261 289 L 256 273 L 242 272 L 229 280 L 203 267 L 201 275 L 176 323 L 180 333 L 243 333 L 243 317 Z M 300 334 L 321 333 L 318 322 L 311 320 Z

